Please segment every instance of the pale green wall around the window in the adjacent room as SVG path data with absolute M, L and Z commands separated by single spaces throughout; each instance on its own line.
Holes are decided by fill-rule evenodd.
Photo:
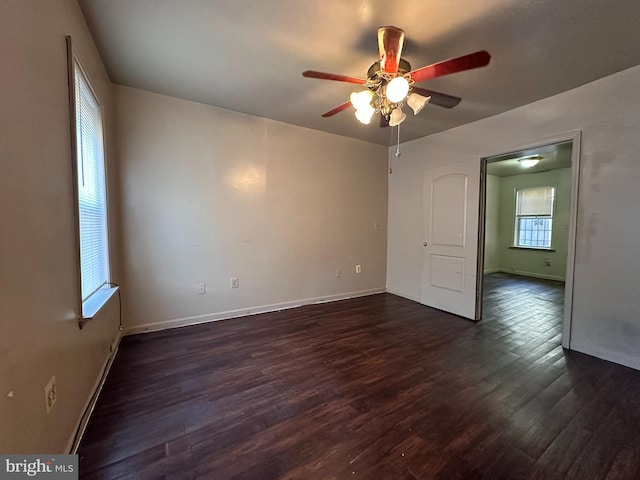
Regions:
M 571 169 L 513 175 L 500 179 L 499 258 L 503 272 L 531 277 L 564 280 L 567 270 L 567 243 L 569 241 L 569 213 L 571 208 Z M 553 251 L 519 250 L 513 245 L 515 219 L 515 189 L 527 187 L 556 187 L 553 215 Z M 545 259 L 549 259 L 549 265 Z

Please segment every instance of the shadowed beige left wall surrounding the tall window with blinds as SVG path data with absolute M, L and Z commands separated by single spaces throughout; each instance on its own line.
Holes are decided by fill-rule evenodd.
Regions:
M 105 103 L 110 138 L 111 84 L 76 2 L 0 5 L 1 453 L 68 451 L 118 332 L 116 302 L 83 330 L 76 323 L 67 34 Z M 111 199 L 115 226 L 117 192 Z

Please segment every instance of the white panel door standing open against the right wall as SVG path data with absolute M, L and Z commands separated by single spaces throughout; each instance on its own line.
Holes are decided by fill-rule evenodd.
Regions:
M 423 187 L 424 305 L 476 319 L 480 161 L 428 169 Z

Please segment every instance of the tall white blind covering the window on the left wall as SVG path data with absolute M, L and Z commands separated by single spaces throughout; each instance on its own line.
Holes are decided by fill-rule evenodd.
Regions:
M 109 281 L 102 112 L 79 65 L 74 65 L 82 301 Z

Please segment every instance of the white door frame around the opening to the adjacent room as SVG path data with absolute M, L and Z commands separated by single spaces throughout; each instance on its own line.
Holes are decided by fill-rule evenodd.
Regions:
M 569 210 L 569 235 L 567 243 L 567 269 L 565 272 L 564 290 L 564 314 L 562 320 L 562 346 L 571 349 L 571 326 L 573 317 L 573 285 L 575 275 L 575 249 L 576 249 L 576 228 L 578 221 L 578 199 L 580 184 L 580 146 L 582 132 L 573 130 L 553 137 L 547 137 L 525 145 L 516 145 L 512 148 L 501 149 L 492 155 L 485 155 L 480 159 L 480 201 L 478 218 L 478 270 L 476 272 L 476 318 L 482 318 L 482 294 L 484 275 L 484 242 L 486 223 L 486 201 L 487 201 L 487 161 L 490 158 L 508 155 L 511 152 L 521 150 L 531 150 L 556 143 L 571 142 L 571 205 Z

